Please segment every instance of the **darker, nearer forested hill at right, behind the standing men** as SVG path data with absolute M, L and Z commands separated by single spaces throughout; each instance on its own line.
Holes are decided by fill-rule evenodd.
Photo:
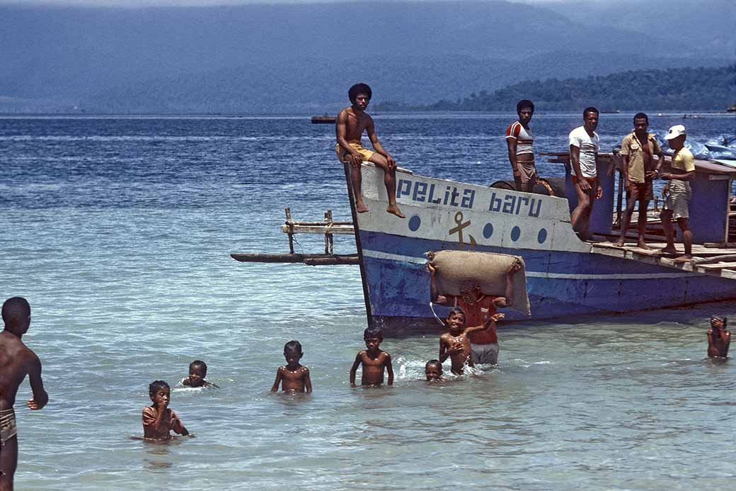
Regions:
M 513 111 L 531 99 L 537 110 L 723 110 L 736 101 L 736 66 L 629 70 L 601 77 L 526 80 L 495 91 L 430 105 L 383 103 L 374 111 Z

